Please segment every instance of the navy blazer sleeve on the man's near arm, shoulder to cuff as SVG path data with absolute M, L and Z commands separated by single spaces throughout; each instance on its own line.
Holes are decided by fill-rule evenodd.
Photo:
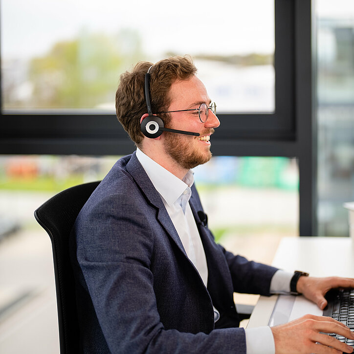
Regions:
M 154 230 L 139 210 L 131 195 L 112 195 L 88 206 L 75 224 L 77 259 L 111 353 L 245 354 L 242 328 L 164 329 L 150 270 Z

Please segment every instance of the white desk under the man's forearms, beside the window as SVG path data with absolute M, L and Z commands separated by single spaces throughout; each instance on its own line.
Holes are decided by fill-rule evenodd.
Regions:
M 311 276 L 342 276 L 354 278 L 354 243 L 349 237 L 284 238 L 272 266 L 294 271 L 303 270 Z M 249 319 L 247 328 L 266 326 L 278 295 L 261 296 Z

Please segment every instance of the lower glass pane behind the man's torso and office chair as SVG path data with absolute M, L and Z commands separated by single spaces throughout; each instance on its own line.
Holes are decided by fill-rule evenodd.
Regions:
M 33 212 L 63 189 L 103 178 L 118 157 L 0 156 L 4 353 L 59 353 L 51 243 Z M 271 263 L 281 238 L 298 235 L 295 159 L 213 157 L 195 169 L 195 179 L 209 226 L 226 249 Z M 257 298 L 244 296 L 243 303 Z

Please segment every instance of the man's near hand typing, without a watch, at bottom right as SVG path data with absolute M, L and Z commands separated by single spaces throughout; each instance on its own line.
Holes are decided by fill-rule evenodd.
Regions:
M 331 317 L 305 315 L 284 325 L 270 328 L 273 332 L 275 354 L 342 354 L 353 348 L 325 333 L 337 333 L 354 339 L 354 333 Z M 332 347 L 332 348 L 331 348 Z

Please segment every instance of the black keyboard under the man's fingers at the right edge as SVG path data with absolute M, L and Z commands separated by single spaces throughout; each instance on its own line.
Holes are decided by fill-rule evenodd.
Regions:
M 344 323 L 354 332 L 354 289 L 332 289 L 326 294 L 326 299 L 328 306 L 323 310 L 323 315 Z M 354 340 L 336 333 L 330 335 L 354 347 Z

